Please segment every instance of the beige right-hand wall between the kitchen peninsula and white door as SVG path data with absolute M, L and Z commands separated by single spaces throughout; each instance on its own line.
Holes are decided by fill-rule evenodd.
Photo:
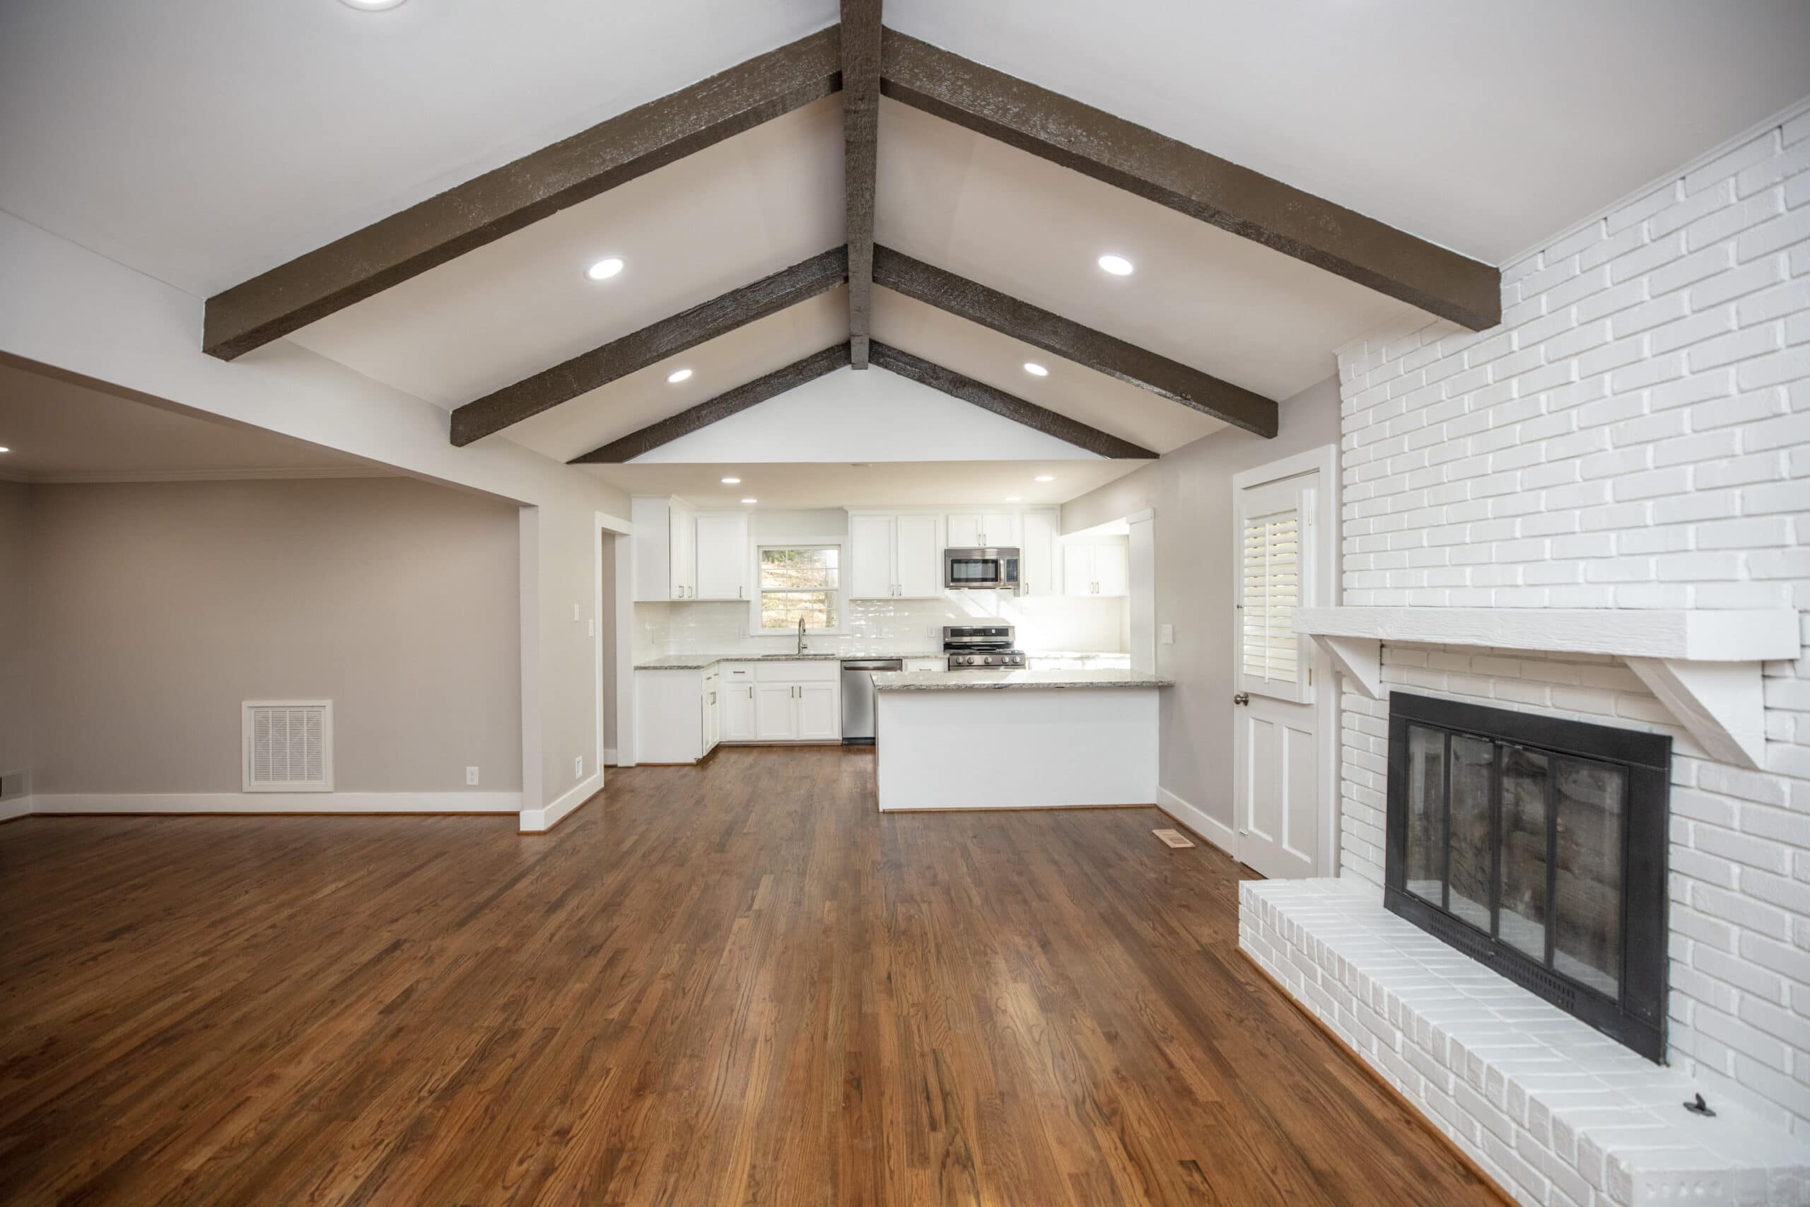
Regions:
M 1062 507 L 1062 532 L 1157 510 L 1157 644 L 1162 756 L 1157 782 L 1189 805 L 1233 820 L 1233 474 L 1339 442 L 1339 382 L 1281 404 L 1281 431 L 1262 440 L 1225 429 Z

